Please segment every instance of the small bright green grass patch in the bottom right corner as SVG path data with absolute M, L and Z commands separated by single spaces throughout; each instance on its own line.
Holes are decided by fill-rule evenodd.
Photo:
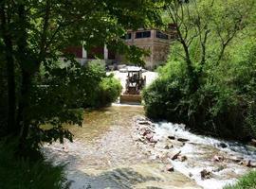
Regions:
M 224 189 L 255 189 L 256 188 L 256 171 L 251 171 L 242 177 L 234 185 L 228 185 Z

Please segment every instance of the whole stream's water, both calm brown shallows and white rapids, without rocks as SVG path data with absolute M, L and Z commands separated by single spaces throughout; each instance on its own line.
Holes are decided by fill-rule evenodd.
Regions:
M 132 137 L 133 117 L 143 114 L 142 106 L 112 106 L 84 112 L 82 128 L 68 127 L 74 134 L 73 143 L 65 141 L 64 145 L 45 145 L 42 150 L 47 160 L 66 164 L 65 172 L 72 189 L 214 189 L 234 180 L 237 175 L 245 173 L 247 168 L 236 163 L 226 163 L 226 167 L 216 174 L 225 176 L 224 179 L 215 177 L 201 180 L 199 174 L 202 168 L 211 168 L 213 171 L 222 165 L 212 165 L 210 157 L 213 154 L 256 159 L 254 148 L 194 135 L 174 124 L 155 123 L 155 135 L 159 140 L 168 134 L 190 139 L 189 143 L 180 147 L 182 153 L 188 156 L 188 161 L 173 161 L 177 171 L 163 171 L 164 164 L 142 150 Z M 222 143 L 227 144 L 227 147 L 220 147 Z

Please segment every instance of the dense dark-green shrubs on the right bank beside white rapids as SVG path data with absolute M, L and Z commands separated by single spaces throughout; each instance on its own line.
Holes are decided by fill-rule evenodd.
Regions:
M 247 51 L 244 59 L 229 60 L 215 70 L 208 68 L 210 75 L 200 77 L 193 93 L 184 63 L 171 60 L 143 92 L 146 114 L 214 136 L 239 140 L 256 137 L 256 47 Z

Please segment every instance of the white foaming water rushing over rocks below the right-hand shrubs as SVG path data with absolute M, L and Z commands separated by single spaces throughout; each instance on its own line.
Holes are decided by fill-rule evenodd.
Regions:
M 186 161 L 170 160 L 170 162 L 174 164 L 175 170 L 195 180 L 205 189 L 221 189 L 228 183 L 234 183 L 252 169 L 247 167 L 248 161 L 254 165 L 256 163 L 256 148 L 253 146 L 196 135 L 185 129 L 185 126 L 167 122 L 155 123 L 154 127 L 155 139 L 159 142 L 154 147 L 152 156 L 164 153 L 165 149 L 162 146 L 168 144 L 170 140 L 163 139 L 168 139 L 168 136 L 188 139 L 185 145 L 174 146 L 172 149 L 181 151 L 181 155 L 186 156 Z M 220 157 L 222 160 L 216 161 L 214 157 Z M 204 169 L 210 172 L 210 179 L 201 178 L 200 172 Z

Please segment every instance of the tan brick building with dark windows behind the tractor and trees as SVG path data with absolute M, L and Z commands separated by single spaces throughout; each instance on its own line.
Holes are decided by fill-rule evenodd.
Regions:
M 175 26 L 170 25 L 169 29 L 165 32 L 157 29 L 142 28 L 137 31 L 128 30 L 123 40 L 128 45 L 136 45 L 150 52 L 150 55 L 143 59 L 145 61 L 145 68 L 152 70 L 167 60 L 171 43 L 175 37 Z M 82 46 L 73 46 L 69 47 L 67 51 L 73 53 L 82 64 L 95 60 L 96 57 L 105 61 L 106 64 L 136 63 L 129 62 L 125 60 L 124 56 L 109 51 L 106 46 L 93 48 L 90 51 L 86 51 Z

